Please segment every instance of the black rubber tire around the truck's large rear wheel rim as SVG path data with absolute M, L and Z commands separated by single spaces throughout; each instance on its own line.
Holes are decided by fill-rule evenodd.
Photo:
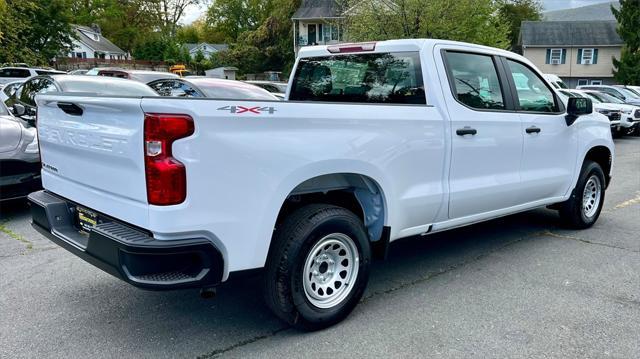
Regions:
M 340 302 L 320 308 L 305 291 L 303 272 L 309 258 L 315 258 L 310 251 L 336 233 L 348 236 L 350 244 L 355 244 L 352 248 L 357 248 L 359 258 L 353 261 L 357 265 L 350 272 L 355 273 L 355 282 L 347 283 L 345 288 L 352 286 L 343 289 L 346 293 Z M 276 228 L 272 241 L 263 286 L 266 303 L 278 317 L 298 329 L 312 331 L 338 323 L 351 313 L 364 294 L 371 265 L 369 240 L 360 218 L 341 207 L 308 205 L 290 214 Z M 320 253 L 318 248 L 314 252 Z

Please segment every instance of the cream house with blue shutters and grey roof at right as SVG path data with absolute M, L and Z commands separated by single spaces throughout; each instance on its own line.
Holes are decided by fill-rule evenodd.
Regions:
M 623 45 L 616 26 L 600 20 L 523 21 L 522 54 L 572 88 L 613 84 L 613 58 L 620 58 Z

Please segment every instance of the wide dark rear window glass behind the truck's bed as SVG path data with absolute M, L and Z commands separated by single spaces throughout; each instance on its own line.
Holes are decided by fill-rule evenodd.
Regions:
M 417 52 L 300 59 L 290 100 L 426 104 Z

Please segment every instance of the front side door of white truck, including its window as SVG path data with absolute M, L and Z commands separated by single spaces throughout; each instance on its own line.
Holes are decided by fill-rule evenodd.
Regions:
M 504 62 L 524 132 L 522 202 L 563 196 L 573 183 L 578 155 L 575 125 L 567 126 L 553 90 L 539 74 L 524 63 Z

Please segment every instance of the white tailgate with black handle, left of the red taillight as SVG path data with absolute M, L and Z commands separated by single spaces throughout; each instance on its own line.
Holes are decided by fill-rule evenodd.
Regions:
M 44 188 L 144 226 L 140 99 L 48 95 L 37 103 Z

